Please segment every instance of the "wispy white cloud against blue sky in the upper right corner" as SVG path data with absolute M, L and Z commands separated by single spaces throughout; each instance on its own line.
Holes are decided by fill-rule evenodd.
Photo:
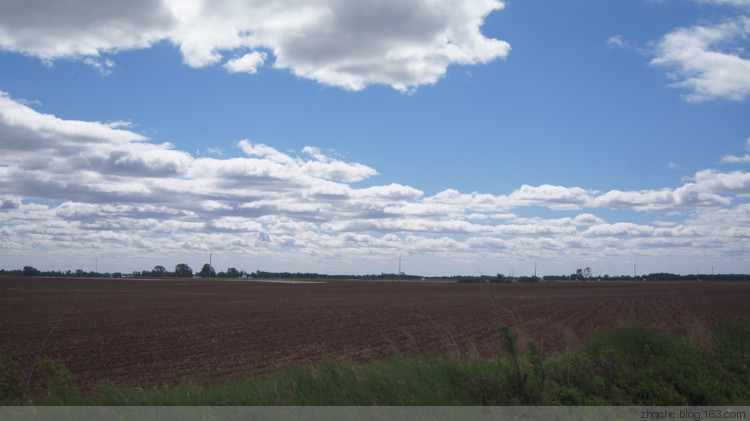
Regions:
M 748 16 L 679 28 L 657 43 L 651 63 L 676 70 L 672 86 L 692 90 L 688 101 L 742 100 L 750 95 L 750 59 L 743 56 L 748 35 Z

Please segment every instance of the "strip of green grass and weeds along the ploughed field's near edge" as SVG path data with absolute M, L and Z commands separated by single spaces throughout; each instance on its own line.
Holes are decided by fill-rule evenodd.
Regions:
M 44 394 L 18 388 L 13 362 L 0 358 L 0 403 L 68 405 L 747 405 L 750 320 L 696 341 L 654 328 L 619 327 L 542 360 L 530 342 L 519 355 L 500 327 L 499 359 L 398 357 L 327 361 L 225 384 L 153 389 L 102 386 L 76 393 L 69 372 L 40 360 Z M 15 379 L 15 380 L 14 380 Z

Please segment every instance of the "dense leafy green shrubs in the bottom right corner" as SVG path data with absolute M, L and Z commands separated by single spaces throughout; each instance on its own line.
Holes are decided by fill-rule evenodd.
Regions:
M 739 326 L 739 327 L 738 327 Z M 746 326 L 722 328 L 723 346 L 747 353 Z M 727 330 L 729 329 L 729 330 Z M 747 370 L 750 361 L 734 351 L 717 355 L 702 350 L 688 338 L 672 337 L 655 328 L 629 326 L 595 335 L 581 350 L 568 351 L 546 361 L 547 373 L 561 396 L 549 404 L 595 404 L 598 398 L 614 405 L 718 405 L 750 398 Z M 742 374 L 742 370 L 744 375 Z M 572 393 L 571 390 L 577 393 Z

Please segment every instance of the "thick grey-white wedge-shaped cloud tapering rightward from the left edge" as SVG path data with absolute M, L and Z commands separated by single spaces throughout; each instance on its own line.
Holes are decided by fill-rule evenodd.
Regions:
M 119 126 L 62 120 L 0 93 L 3 191 L 85 202 L 157 203 L 185 195 L 194 203 L 252 201 L 269 190 L 297 189 L 302 196 L 300 189 L 330 190 L 377 174 L 359 163 L 292 157 L 247 140 L 239 142 L 247 158 L 195 158 Z

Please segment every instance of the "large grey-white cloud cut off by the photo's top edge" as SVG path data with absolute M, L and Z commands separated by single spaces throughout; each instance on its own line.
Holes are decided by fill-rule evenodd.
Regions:
M 510 45 L 486 38 L 497 0 L 6 0 L 0 48 L 45 61 L 83 58 L 111 71 L 103 54 L 179 47 L 192 67 L 229 72 L 273 67 L 350 90 L 401 91 L 437 82 L 451 64 L 505 58 Z

